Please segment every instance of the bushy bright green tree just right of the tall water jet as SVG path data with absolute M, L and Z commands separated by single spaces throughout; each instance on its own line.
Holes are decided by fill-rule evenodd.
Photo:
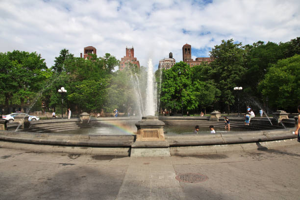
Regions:
M 163 70 L 160 100 L 168 108 L 182 107 L 192 110 L 198 106 L 212 105 L 220 94 L 213 81 L 201 81 L 194 76 L 198 68 L 191 68 L 184 62 L 176 63 L 171 69 Z

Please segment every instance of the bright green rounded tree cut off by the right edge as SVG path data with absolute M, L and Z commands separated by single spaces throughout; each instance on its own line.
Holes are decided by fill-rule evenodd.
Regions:
M 300 55 L 279 60 L 259 84 L 263 97 L 276 109 L 295 110 L 300 103 Z

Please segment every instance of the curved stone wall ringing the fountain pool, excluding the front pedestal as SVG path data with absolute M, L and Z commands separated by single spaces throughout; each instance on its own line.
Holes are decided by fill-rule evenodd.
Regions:
M 126 124 L 132 125 L 137 118 L 100 118 L 92 119 L 90 125 L 102 125 L 103 123 L 112 124 Z M 223 122 L 208 122 L 207 118 L 197 117 L 162 117 L 160 120 L 169 125 L 205 125 L 210 123 L 214 125 L 224 126 Z M 254 120 L 252 119 L 251 122 Z M 256 120 L 257 125 L 263 127 L 265 121 Z M 31 123 L 29 131 L 38 130 L 39 128 L 45 128 L 48 125 L 54 126 L 66 126 L 68 123 L 73 123 L 80 128 L 81 124 L 79 119 L 72 120 L 50 120 Z M 243 119 L 230 119 L 232 125 L 243 125 Z M 86 125 L 85 125 L 86 126 Z M 253 125 L 254 127 L 255 125 Z M 265 125 L 268 126 L 268 125 Z M 11 126 L 13 127 L 13 126 Z M 258 127 L 258 126 L 257 126 Z M 35 129 L 36 128 L 36 129 Z M 43 129 L 42 128 L 42 129 Z M 245 127 L 248 128 L 248 127 Z M 273 129 L 271 129 L 273 128 Z M 259 129 L 259 128 L 257 128 Z M 62 133 L 39 133 L 26 131 L 12 131 L 1 130 L 0 140 L 6 142 L 17 142 L 22 144 L 36 144 L 36 145 L 54 145 L 70 148 L 102 148 L 103 153 L 111 155 L 130 155 L 131 149 L 137 148 L 170 148 L 178 149 L 183 147 L 200 147 L 200 146 L 216 146 L 216 145 L 229 145 L 229 144 L 245 144 L 245 143 L 260 143 L 267 141 L 287 140 L 296 138 L 296 135 L 292 134 L 294 128 L 280 128 L 280 126 L 267 127 L 268 130 L 257 131 L 243 131 L 243 132 L 224 132 L 216 134 L 188 134 L 188 135 L 166 135 L 166 141 L 163 143 L 157 142 L 143 142 L 143 144 L 135 141 L 135 135 L 84 135 L 84 134 L 62 134 Z M 107 151 L 110 148 L 109 151 Z M 120 151 L 120 148 L 122 149 Z M 114 151 L 116 150 L 116 151 Z M 101 150 L 97 151 L 101 154 Z M 172 152 L 172 151 L 171 151 Z M 173 154 L 176 154 L 173 151 Z M 176 151 L 179 152 L 178 150 Z M 171 153 L 172 154 L 172 153 Z M 180 153 L 179 153 L 180 154 Z

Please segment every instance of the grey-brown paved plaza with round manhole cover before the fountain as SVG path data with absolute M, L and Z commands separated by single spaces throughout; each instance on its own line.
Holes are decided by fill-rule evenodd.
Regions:
M 299 200 L 300 145 L 259 148 L 136 158 L 2 148 L 0 200 Z M 184 182 L 191 173 L 206 178 Z

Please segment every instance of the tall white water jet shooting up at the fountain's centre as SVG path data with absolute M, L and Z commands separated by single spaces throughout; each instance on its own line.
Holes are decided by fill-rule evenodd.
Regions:
M 148 61 L 148 72 L 147 72 L 147 88 L 146 88 L 146 107 L 145 114 L 146 116 L 155 115 L 155 101 L 154 100 L 154 91 L 153 91 L 153 65 L 152 60 Z

